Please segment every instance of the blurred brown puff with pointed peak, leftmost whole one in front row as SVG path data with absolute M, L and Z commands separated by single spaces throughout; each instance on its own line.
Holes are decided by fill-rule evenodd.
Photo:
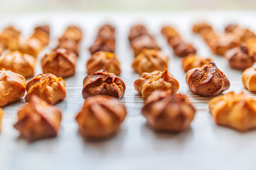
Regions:
M 29 141 L 40 140 L 58 135 L 61 111 L 37 96 L 32 96 L 29 103 L 18 110 L 18 121 L 14 128 L 21 132 L 21 137 Z

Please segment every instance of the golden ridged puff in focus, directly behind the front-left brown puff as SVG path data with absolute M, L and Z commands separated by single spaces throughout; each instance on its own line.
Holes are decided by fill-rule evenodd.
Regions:
M 26 102 L 31 100 L 33 95 L 38 96 L 49 104 L 55 105 L 66 97 L 65 81 L 53 74 L 38 74 L 26 84 Z

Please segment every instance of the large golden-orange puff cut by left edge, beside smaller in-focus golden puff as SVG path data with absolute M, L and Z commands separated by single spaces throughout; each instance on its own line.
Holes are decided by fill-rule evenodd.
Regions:
M 0 106 L 21 100 L 26 92 L 26 79 L 9 70 L 0 70 Z

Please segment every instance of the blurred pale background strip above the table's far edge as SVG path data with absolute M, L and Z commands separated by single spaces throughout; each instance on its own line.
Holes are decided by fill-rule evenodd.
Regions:
M 255 0 L 0 0 L 0 14 L 40 11 L 254 10 Z

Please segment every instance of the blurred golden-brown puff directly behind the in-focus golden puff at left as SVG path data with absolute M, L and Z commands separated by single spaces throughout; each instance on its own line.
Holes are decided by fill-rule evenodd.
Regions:
M 51 73 L 56 77 L 70 77 L 75 74 L 78 56 L 74 52 L 58 48 L 46 54 L 41 60 L 43 74 Z

